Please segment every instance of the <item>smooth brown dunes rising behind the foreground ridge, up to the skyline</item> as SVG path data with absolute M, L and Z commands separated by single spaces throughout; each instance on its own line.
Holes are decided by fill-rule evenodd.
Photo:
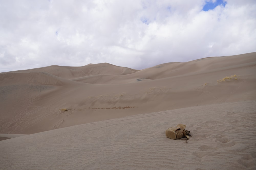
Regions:
M 0 133 L 32 134 L 129 115 L 255 100 L 255 66 L 256 53 L 249 53 L 144 70 L 101 63 L 0 73 Z M 217 82 L 234 74 L 237 77 Z

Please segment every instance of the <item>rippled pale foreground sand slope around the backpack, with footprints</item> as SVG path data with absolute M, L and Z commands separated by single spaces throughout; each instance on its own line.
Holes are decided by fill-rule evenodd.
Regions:
M 255 169 L 256 100 L 76 125 L 0 141 L 1 169 Z M 191 139 L 166 138 L 187 125 Z

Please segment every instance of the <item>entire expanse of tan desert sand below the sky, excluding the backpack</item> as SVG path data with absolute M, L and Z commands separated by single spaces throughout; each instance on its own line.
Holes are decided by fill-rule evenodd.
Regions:
M 0 169 L 256 169 L 255 73 L 256 53 L 0 73 Z

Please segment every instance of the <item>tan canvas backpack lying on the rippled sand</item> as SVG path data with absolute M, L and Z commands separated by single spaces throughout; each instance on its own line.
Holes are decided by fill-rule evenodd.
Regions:
M 167 138 L 171 139 L 181 139 L 186 137 L 189 139 L 190 131 L 185 130 L 186 125 L 178 124 L 177 126 L 172 126 L 165 130 L 165 135 Z

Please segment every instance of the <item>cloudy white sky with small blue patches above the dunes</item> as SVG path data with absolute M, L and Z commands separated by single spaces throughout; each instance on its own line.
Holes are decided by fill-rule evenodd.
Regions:
M 255 0 L 0 0 L 0 72 L 255 51 Z

